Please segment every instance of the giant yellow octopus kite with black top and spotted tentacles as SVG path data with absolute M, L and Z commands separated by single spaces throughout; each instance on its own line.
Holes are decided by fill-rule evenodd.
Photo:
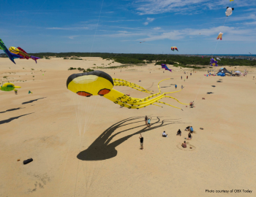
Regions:
M 165 80 L 168 80 L 168 79 L 165 79 Z M 159 83 L 158 83 L 158 88 L 159 88 Z M 161 93 L 160 88 L 159 88 L 159 93 L 154 93 L 154 94 L 151 93 L 150 96 L 146 96 L 143 99 L 138 99 L 138 98 L 127 96 L 126 94 L 113 89 L 113 86 L 127 86 L 129 88 L 134 88 L 135 90 L 140 90 L 145 93 L 151 93 L 151 91 L 146 90 L 145 88 L 141 87 L 140 85 L 136 85 L 135 83 L 127 82 L 126 80 L 121 80 L 116 78 L 112 79 L 112 77 L 110 77 L 109 74 L 102 71 L 72 74 L 67 78 L 67 89 L 69 89 L 73 93 L 76 93 L 79 96 L 86 96 L 86 97 L 103 96 L 106 99 L 113 101 L 114 104 L 119 104 L 121 107 L 127 107 L 128 109 L 140 109 L 151 104 L 161 107 L 155 104 L 155 103 L 166 104 L 165 102 L 159 101 L 160 99 L 163 99 L 163 98 L 175 99 L 172 96 L 166 96 L 167 93 Z M 168 92 L 168 93 L 176 93 L 181 90 L 178 90 L 175 92 Z M 177 99 L 175 100 L 178 101 Z M 184 104 L 184 103 L 181 103 L 180 101 L 178 102 L 180 104 Z M 166 105 L 174 107 L 170 104 L 166 104 Z M 179 107 L 176 107 L 176 108 L 181 109 Z

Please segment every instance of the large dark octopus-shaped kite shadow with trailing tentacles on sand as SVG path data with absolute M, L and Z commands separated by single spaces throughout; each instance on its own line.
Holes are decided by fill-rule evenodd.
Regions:
M 178 120 L 178 119 L 160 120 L 160 118 L 157 117 L 156 122 L 151 123 L 151 128 L 147 128 L 145 125 L 145 120 L 135 121 L 141 118 L 144 118 L 144 117 L 129 117 L 127 119 L 121 120 L 120 122 L 114 125 L 111 125 L 88 147 L 88 149 L 81 151 L 78 154 L 77 158 L 82 161 L 102 161 L 105 159 L 114 158 L 117 155 L 116 147 L 119 144 L 125 142 L 130 137 L 138 134 L 143 134 L 145 132 L 154 130 L 156 128 L 160 128 L 165 125 L 183 123 L 181 120 Z M 123 131 L 119 131 L 118 133 L 113 134 L 116 131 L 116 129 L 121 128 L 122 126 L 131 125 L 133 123 L 140 123 L 140 122 L 142 123 L 142 125 L 127 128 L 127 129 L 124 129 Z M 111 142 L 111 140 L 114 137 L 116 137 L 118 134 L 121 134 L 126 131 L 130 131 L 136 128 L 138 128 L 138 131 L 136 131 L 134 134 L 129 134 L 127 136 L 122 137 L 121 139 L 117 139 L 116 141 Z M 138 143 L 139 143 L 139 139 L 138 139 Z

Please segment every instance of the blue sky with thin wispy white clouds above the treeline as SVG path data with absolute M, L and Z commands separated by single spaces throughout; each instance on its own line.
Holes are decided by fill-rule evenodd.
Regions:
M 256 54 L 255 0 L 3 0 L 0 27 L 28 53 Z

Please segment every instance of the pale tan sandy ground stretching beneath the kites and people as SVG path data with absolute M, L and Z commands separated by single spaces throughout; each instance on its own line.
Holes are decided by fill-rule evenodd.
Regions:
M 153 64 L 102 69 L 154 92 L 160 80 L 170 78 L 160 84 L 162 92 L 184 85 L 171 96 L 195 101 L 195 108 L 163 99 L 184 111 L 168 106 L 126 109 L 94 96 L 83 103 L 92 108 L 85 113 L 90 118 L 86 130 L 80 131 L 78 103 L 66 87 L 67 77 L 78 71 L 67 69 L 110 62 L 85 59 L 15 60 L 15 65 L 0 58 L 0 82 L 22 87 L 18 95 L 0 91 L 0 196 L 255 196 L 255 69 L 247 68 L 247 77 L 204 77 L 205 71 L 197 71 L 185 81 L 181 75 L 187 76 L 186 69 L 163 73 Z M 116 89 L 138 98 L 148 95 Z M 152 117 L 151 128 L 146 128 L 145 115 Z M 193 125 L 195 134 L 182 149 L 187 125 Z M 182 136 L 176 136 L 179 128 Z M 34 161 L 23 165 L 28 158 Z M 243 193 L 248 189 L 251 194 Z

